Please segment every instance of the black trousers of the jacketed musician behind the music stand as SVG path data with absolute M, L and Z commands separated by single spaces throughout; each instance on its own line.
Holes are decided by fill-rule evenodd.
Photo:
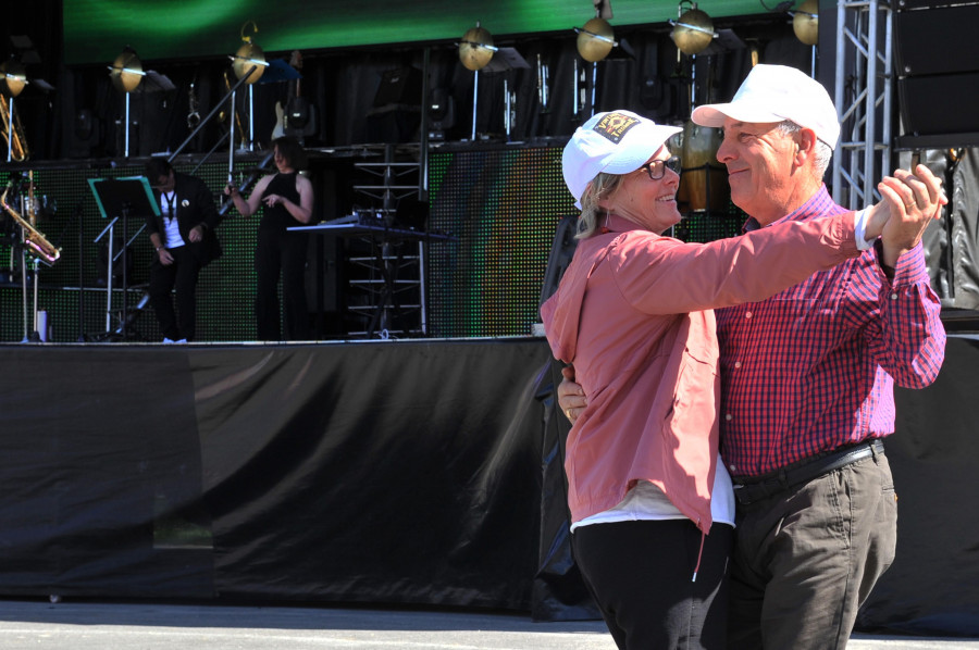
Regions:
M 186 246 L 168 250 L 173 255 L 173 264 L 164 266 L 159 257 L 150 264 L 150 304 L 153 305 L 164 337 L 191 341 L 197 334 L 197 278 L 200 275 L 200 263 Z M 174 287 L 177 311 L 173 309 L 171 296 Z

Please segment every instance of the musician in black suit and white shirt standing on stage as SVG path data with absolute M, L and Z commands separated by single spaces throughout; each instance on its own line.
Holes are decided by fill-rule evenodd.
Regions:
M 163 159 L 146 165 L 146 176 L 160 205 L 146 228 L 156 255 L 150 265 L 149 295 L 163 342 L 194 340 L 197 322 L 197 278 L 200 270 L 221 257 L 214 229 L 220 217 L 207 185 L 195 176 L 178 174 Z M 177 313 L 171 293 L 176 287 Z

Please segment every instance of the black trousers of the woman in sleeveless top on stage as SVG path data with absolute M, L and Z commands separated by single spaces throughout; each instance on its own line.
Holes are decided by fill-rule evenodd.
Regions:
M 309 237 L 305 233 L 259 229 L 255 250 L 255 271 L 258 276 L 255 314 L 259 340 L 309 339 L 309 310 L 306 307 L 308 245 Z M 280 274 L 284 318 L 278 309 Z M 283 320 L 285 339 L 282 338 Z

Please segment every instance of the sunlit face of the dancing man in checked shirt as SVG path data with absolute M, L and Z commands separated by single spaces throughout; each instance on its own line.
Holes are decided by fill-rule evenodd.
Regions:
M 797 185 L 793 164 L 795 137 L 778 129 L 778 122 L 724 120 L 724 139 L 717 160 L 728 167 L 731 201 L 763 225 L 791 211 Z

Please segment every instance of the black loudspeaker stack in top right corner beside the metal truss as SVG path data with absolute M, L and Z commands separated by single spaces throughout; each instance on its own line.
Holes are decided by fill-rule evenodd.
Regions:
M 901 120 L 914 136 L 979 132 L 979 4 L 937 4 L 904 0 L 895 17 Z

